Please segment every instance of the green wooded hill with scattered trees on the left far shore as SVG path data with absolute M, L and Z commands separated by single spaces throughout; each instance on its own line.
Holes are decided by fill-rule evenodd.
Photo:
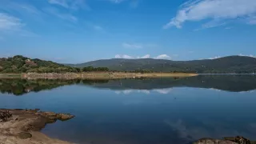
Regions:
M 56 62 L 44 61 L 38 58 L 26 58 L 16 55 L 12 58 L 0 58 L 0 73 L 78 73 L 82 71 L 107 71 L 106 67 L 92 66 L 76 68 L 64 66 Z

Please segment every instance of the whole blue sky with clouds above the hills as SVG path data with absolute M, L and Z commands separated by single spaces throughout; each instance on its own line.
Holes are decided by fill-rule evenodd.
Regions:
M 255 0 L 0 1 L 0 57 L 255 57 L 255 40 Z

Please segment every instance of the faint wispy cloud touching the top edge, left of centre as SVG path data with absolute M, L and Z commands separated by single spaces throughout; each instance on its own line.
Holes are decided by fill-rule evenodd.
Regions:
M 90 7 L 86 5 L 84 0 L 48 0 L 48 2 L 71 10 L 79 10 L 81 8 L 90 10 Z

